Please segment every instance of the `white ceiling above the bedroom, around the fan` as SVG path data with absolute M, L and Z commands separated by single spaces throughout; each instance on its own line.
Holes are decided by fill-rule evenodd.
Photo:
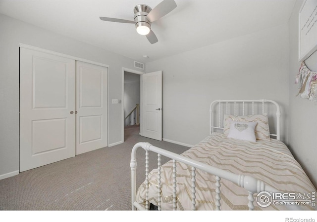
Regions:
M 161 0 L 0 0 L 0 13 L 140 62 L 179 54 L 285 24 L 294 0 L 175 0 L 177 7 L 152 23 L 159 42 L 137 34 L 133 8 Z M 143 58 L 148 55 L 149 58 Z

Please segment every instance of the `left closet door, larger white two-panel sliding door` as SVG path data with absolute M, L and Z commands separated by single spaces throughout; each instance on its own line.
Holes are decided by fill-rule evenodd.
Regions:
M 20 48 L 20 172 L 75 156 L 75 60 Z

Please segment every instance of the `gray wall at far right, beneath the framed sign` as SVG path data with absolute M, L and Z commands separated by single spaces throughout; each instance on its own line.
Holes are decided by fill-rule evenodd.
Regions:
M 296 97 L 298 85 L 295 76 L 298 61 L 298 13 L 303 1 L 296 1 L 289 20 L 289 148 L 317 187 L 317 103 Z M 317 52 L 305 61 L 317 72 Z

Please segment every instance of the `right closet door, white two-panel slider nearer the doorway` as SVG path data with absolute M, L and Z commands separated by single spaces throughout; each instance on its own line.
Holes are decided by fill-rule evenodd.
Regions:
M 76 62 L 76 155 L 108 145 L 107 74 L 106 67 Z

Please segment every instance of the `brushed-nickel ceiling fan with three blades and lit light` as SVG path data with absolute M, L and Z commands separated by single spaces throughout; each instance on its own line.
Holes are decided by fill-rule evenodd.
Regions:
M 163 0 L 153 9 L 146 4 L 138 4 L 133 10 L 134 21 L 108 17 L 99 18 L 108 22 L 133 23 L 135 24 L 137 33 L 146 36 L 151 44 L 154 44 L 158 42 L 158 38 L 151 30 L 151 23 L 171 12 L 176 6 L 174 0 Z

